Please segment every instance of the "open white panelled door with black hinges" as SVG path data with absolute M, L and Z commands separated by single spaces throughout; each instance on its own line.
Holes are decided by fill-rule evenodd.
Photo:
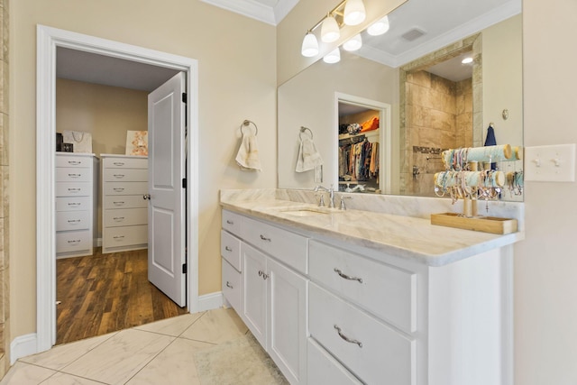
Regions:
M 185 74 L 148 96 L 148 279 L 186 305 Z

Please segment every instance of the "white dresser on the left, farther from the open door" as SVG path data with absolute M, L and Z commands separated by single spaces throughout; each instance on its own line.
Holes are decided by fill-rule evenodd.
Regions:
M 98 159 L 56 153 L 56 257 L 91 255 L 97 238 Z

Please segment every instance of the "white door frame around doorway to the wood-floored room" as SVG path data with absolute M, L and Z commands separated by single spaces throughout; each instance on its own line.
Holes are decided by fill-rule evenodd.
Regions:
M 56 49 L 82 50 L 187 73 L 187 306 L 198 309 L 197 60 L 44 25 L 36 30 L 36 350 L 56 343 Z

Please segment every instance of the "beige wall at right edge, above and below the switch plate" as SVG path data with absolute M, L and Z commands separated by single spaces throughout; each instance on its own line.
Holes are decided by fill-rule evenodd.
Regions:
M 525 144 L 577 142 L 577 2 L 523 1 Z M 527 182 L 515 247 L 518 385 L 577 383 L 577 185 Z

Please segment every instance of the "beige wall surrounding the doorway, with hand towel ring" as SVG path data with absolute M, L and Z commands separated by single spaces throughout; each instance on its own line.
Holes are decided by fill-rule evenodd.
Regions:
M 199 0 L 10 3 L 11 340 L 36 330 L 36 24 L 198 60 L 199 293 L 220 290 L 220 188 L 276 187 L 274 27 Z M 239 126 L 259 126 L 262 172 L 234 163 Z

